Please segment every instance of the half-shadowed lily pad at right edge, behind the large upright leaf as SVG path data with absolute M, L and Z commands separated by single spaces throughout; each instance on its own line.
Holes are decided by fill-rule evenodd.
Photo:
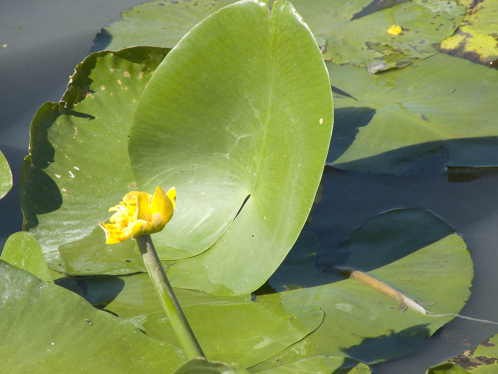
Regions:
M 327 68 L 336 111 L 328 164 L 394 175 L 498 165 L 488 114 L 498 101 L 496 70 L 446 54 L 375 75 Z

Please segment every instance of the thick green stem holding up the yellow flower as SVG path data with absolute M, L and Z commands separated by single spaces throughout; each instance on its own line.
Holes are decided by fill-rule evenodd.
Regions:
M 159 257 L 157 257 L 150 235 L 137 236 L 136 244 L 142 255 L 143 263 L 149 273 L 150 280 L 152 281 L 162 307 L 166 312 L 166 316 L 173 327 L 173 331 L 175 332 L 180 345 L 187 354 L 187 357 L 189 359 L 205 357 L 185 318 L 185 314 L 183 314 L 182 308 L 173 293 L 173 289 L 169 284 L 166 273 L 159 261 Z

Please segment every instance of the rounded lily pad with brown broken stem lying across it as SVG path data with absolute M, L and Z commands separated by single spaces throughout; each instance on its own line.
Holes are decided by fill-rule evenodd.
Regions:
M 419 209 L 396 209 L 360 226 L 344 243 L 344 266 L 368 271 L 409 297 L 434 305 L 434 314 L 458 313 L 467 301 L 472 261 L 462 238 L 440 218 Z M 310 274 L 312 277 L 313 274 Z M 303 340 L 251 371 L 263 371 L 317 355 L 346 356 L 364 363 L 390 360 L 420 347 L 453 317 L 408 309 L 354 279 L 281 292 L 279 302 L 320 307 L 325 318 Z M 434 280 L 437 279 L 437 287 Z M 275 295 L 260 295 L 260 301 Z

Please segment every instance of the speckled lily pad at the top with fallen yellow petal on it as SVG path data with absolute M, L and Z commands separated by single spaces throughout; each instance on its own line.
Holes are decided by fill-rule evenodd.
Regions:
M 450 36 L 465 7 L 456 1 L 295 0 L 321 46 L 323 57 L 373 72 L 410 64 L 436 53 L 432 46 Z M 399 35 L 387 33 L 400 25 Z

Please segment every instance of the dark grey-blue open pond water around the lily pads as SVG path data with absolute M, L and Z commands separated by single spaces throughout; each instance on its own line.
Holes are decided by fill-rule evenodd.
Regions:
M 14 187 L 0 200 L 0 248 L 21 229 L 18 187 L 29 124 L 38 107 L 58 101 L 68 76 L 83 60 L 101 26 L 140 0 L 17 1 L 0 3 L 0 149 Z M 2 47 L 2 44 L 7 44 Z M 423 178 L 364 176 L 326 169 L 324 195 L 331 212 L 328 236 L 339 244 L 367 219 L 392 208 L 420 207 L 437 214 L 466 241 L 475 264 L 472 296 L 461 314 L 498 321 L 498 172 L 428 173 Z M 322 203 L 323 206 L 323 203 Z M 326 258 L 322 258 L 326 260 Z M 284 280 L 282 280 L 284 281 Z M 296 283 L 296 282 L 292 282 Z M 373 368 L 376 374 L 425 373 L 426 368 L 496 334 L 494 325 L 460 320 L 438 331 L 426 347 Z

